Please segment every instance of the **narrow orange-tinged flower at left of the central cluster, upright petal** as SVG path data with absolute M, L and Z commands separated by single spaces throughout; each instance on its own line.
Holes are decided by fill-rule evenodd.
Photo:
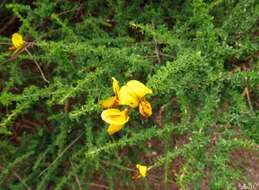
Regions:
M 101 101 L 102 108 L 114 108 L 119 105 L 118 94 L 120 91 L 120 85 L 119 85 L 119 82 L 114 77 L 112 77 L 112 80 L 113 80 L 112 89 L 113 89 L 115 96 L 109 97 L 109 98 Z

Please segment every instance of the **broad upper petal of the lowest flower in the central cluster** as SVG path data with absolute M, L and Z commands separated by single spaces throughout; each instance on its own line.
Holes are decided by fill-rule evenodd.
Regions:
M 107 109 L 101 114 L 102 120 L 110 125 L 124 125 L 128 122 L 128 110 L 120 111 L 118 109 Z

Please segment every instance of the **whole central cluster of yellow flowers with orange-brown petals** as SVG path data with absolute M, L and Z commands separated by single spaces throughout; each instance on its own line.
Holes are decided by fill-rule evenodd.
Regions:
M 130 80 L 126 85 L 120 87 L 119 82 L 112 78 L 112 88 L 115 96 L 101 102 L 103 108 L 107 108 L 101 114 L 102 119 L 110 124 L 109 135 L 120 131 L 124 124 L 129 121 L 129 108 L 139 107 L 139 113 L 144 117 L 152 115 L 151 104 L 145 99 L 152 90 L 137 80 Z M 127 106 L 123 111 L 116 109 L 118 106 Z

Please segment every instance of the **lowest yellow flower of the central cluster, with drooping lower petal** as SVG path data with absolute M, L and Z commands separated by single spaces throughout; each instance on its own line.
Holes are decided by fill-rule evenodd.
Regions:
M 107 109 L 101 114 L 102 120 L 109 123 L 108 134 L 113 135 L 114 133 L 120 131 L 124 124 L 129 121 L 128 110 L 125 109 L 120 111 L 118 109 Z

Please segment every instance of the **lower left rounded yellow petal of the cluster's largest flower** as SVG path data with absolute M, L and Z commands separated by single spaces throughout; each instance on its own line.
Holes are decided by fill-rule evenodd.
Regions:
M 131 88 L 128 86 L 122 86 L 119 92 L 119 104 L 135 108 L 138 107 L 139 99 Z

